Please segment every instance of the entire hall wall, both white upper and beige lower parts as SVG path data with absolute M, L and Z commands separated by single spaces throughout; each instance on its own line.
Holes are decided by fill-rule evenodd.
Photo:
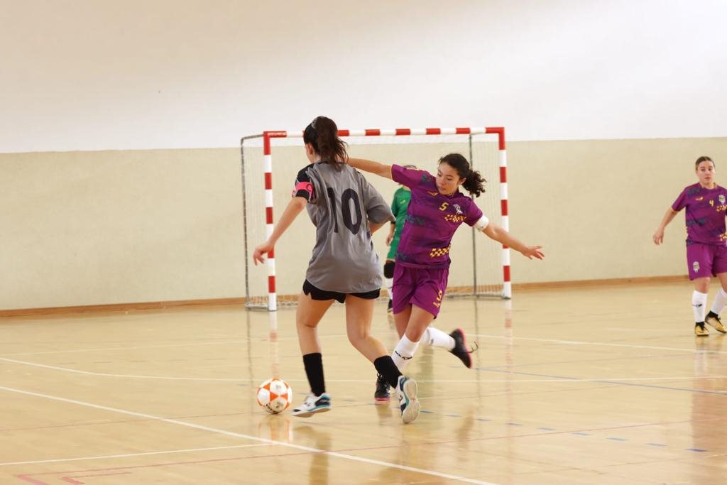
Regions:
M 238 141 L 319 114 L 505 127 L 510 228 L 546 254 L 512 254 L 515 285 L 684 275 L 683 216 L 651 234 L 697 156 L 727 185 L 726 17 L 723 0 L 6 1 L 0 315 L 243 296 Z M 300 217 L 278 245 L 279 294 L 312 231 Z

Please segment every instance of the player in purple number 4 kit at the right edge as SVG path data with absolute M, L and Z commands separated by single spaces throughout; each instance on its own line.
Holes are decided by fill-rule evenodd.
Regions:
M 686 262 L 689 279 L 694 281 L 691 295 L 694 334 L 706 337 L 710 332 L 704 322 L 718 332 L 727 333 L 719 317 L 727 304 L 727 189 L 715 183 L 715 162 L 710 157 L 700 156 L 694 162 L 694 167 L 699 182 L 684 188 L 672 207 L 667 209 L 654 233 L 654 244 L 662 244 L 664 228 L 672 222 L 677 212 L 686 208 Z M 710 313 L 705 316 L 710 276 L 717 276 L 722 287 L 715 296 Z

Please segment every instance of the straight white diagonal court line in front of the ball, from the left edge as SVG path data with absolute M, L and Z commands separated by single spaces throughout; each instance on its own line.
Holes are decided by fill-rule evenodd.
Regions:
M 258 441 L 260 443 L 276 444 L 278 446 L 284 446 L 287 448 L 299 449 L 304 452 L 327 454 L 331 457 L 343 458 L 344 460 L 352 460 L 352 461 L 356 461 L 356 462 L 364 462 L 364 463 L 368 463 L 369 465 L 379 465 L 379 466 L 387 467 L 387 468 L 397 468 L 398 470 L 406 470 L 406 471 L 411 471 L 414 473 L 422 473 L 424 475 L 437 476 L 439 478 L 449 478 L 451 480 L 463 481 L 468 484 L 496 485 L 496 484 L 492 484 L 491 482 L 475 480 L 473 478 L 465 478 L 462 476 L 449 475 L 448 473 L 439 473 L 439 472 L 432 471 L 432 470 L 424 470 L 422 468 L 414 468 L 414 467 L 409 467 L 406 465 L 397 465 L 396 463 L 382 462 L 379 460 L 370 460 L 369 458 L 357 457 L 353 454 L 326 452 L 326 450 L 324 450 L 324 449 L 311 448 L 310 446 L 302 446 L 300 444 L 286 443 L 284 441 L 275 441 L 275 440 L 266 439 L 266 438 L 258 438 L 257 436 L 250 436 L 250 435 L 246 435 L 246 434 L 242 434 L 242 433 L 234 433 L 233 431 L 221 430 L 219 428 L 210 428 L 209 426 L 196 425 L 193 422 L 171 420 L 166 417 L 153 416 L 152 414 L 145 414 L 142 412 L 127 411 L 126 409 L 118 409 L 118 408 L 113 408 L 113 407 L 101 406 L 100 404 L 92 404 L 92 403 L 87 403 L 84 401 L 76 401 L 75 399 L 60 398 L 58 396 L 49 396 L 47 394 L 41 394 L 41 393 L 33 393 L 29 390 L 6 388 L 4 386 L 0 386 L 0 390 L 7 390 L 8 392 L 11 392 L 11 393 L 25 394 L 26 396 L 35 396 L 35 397 L 39 397 L 39 398 L 52 399 L 53 401 L 78 404 L 79 406 L 87 406 L 87 407 L 92 407 L 94 409 L 102 409 L 103 411 L 128 414 L 129 416 L 145 417 L 149 420 L 168 422 L 169 424 L 172 424 L 172 425 L 186 426 L 188 428 L 209 431 L 211 433 L 219 433 L 219 434 L 222 434 L 225 436 L 233 436 L 235 438 L 244 438 L 244 439 L 248 439 L 251 441 Z M 405 425 L 402 424 L 402 426 L 405 426 Z

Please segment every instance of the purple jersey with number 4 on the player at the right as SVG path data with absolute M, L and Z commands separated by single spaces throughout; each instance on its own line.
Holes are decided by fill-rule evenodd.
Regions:
M 672 204 L 672 210 L 679 212 L 685 207 L 687 246 L 694 243 L 725 245 L 726 188 L 717 185 L 707 189 L 699 183 L 688 185 Z

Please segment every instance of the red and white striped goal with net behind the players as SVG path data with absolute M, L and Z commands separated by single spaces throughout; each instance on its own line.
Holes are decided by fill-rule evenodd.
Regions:
M 278 247 L 286 249 L 280 253 L 270 252 L 267 265 L 256 266 L 252 262 L 254 247 L 268 239 L 273 231 L 273 207 L 286 206 L 297 172 L 308 164 L 302 151 L 302 135 L 302 131 L 267 131 L 243 137 L 240 142 L 248 308 L 274 311 L 283 302 L 297 302 L 302 288 L 315 241 L 315 228 L 310 223 L 294 223 L 288 232 L 295 235 L 286 233 L 278 241 Z M 478 206 L 491 221 L 509 230 L 504 128 L 340 129 L 339 136 L 348 143 L 351 157 L 387 164 L 414 164 L 430 173 L 436 173 L 437 162 L 442 156 L 462 153 L 473 169 L 488 181 L 486 192 L 475 199 Z M 274 164 L 273 151 L 276 153 Z M 397 185 L 382 177 L 364 175 L 385 199 L 392 199 Z M 492 190 L 496 178 L 499 191 Z M 276 180 L 275 188 L 273 180 Z M 298 217 L 299 220 L 303 218 Z M 388 252 L 385 233 L 387 228 L 374 234 L 374 248 L 382 265 Z M 507 246 L 499 246 L 474 229 L 457 231 L 452 246 L 447 296 L 512 297 L 510 249 Z M 382 289 L 382 297 L 385 293 Z

